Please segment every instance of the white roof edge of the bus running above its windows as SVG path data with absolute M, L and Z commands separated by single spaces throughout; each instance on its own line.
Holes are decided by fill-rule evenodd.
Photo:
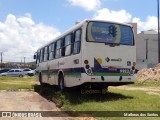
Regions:
M 125 26 L 129 26 L 132 27 L 131 24 L 127 24 L 127 23 L 120 23 L 120 22 L 113 22 L 113 21 L 107 21 L 107 20 L 96 20 L 96 19 L 85 19 L 77 24 L 75 24 L 72 28 L 70 28 L 69 30 L 65 31 L 64 33 L 62 33 L 61 35 L 59 35 L 58 37 L 55 37 L 54 39 L 52 39 L 49 43 L 43 45 L 42 47 L 40 47 L 39 49 L 42 49 L 46 46 L 48 46 L 49 44 L 53 43 L 54 41 L 62 38 L 63 36 L 69 34 L 71 31 L 78 29 L 79 27 L 81 27 L 84 23 L 86 22 L 109 22 L 109 23 L 115 23 L 115 24 L 121 24 L 121 25 L 125 25 Z M 39 50 L 38 49 L 38 50 Z

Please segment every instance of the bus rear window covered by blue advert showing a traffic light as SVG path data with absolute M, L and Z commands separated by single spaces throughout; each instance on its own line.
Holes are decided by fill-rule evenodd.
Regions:
M 109 22 L 89 22 L 87 41 L 132 46 L 134 36 L 130 26 Z

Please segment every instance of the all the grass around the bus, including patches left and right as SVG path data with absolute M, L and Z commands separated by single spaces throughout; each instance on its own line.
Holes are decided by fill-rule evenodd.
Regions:
M 141 84 L 137 81 L 129 87 L 159 87 L 158 82 L 145 82 Z M 149 95 L 147 91 L 138 90 L 121 90 L 116 88 L 109 88 L 106 94 L 100 92 L 92 94 L 92 92 L 84 92 L 84 88 L 68 89 L 65 92 L 60 92 L 55 86 L 42 87 L 37 85 L 35 77 L 0 77 L 0 90 L 17 90 L 17 89 L 33 89 L 48 100 L 57 104 L 57 106 L 64 111 L 68 111 L 71 116 L 93 116 L 96 119 L 102 120 L 123 120 L 131 119 L 132 117 L 97 117 L 104 116 L 108 112 L 101 111 L 159 111 L 160 110 L 160 96 Z M 83 92 L 82 92 L 83 90 Z M 90 89 L 89 89 L 90 90 Z M 97 89 L 95 89 L 97 90 Z M 101 90 L 100 90 L 101 91 Z M 81 112 L 84 111 L 84 112 Z M 100 112 L 96 112 L 100 111 Z M 89 112 L 89 114 L 87 113 Z M 142 120 L 151 119 L 152 117 L 143 117 Z M 158 120 L 158 118 L 153 118 Z

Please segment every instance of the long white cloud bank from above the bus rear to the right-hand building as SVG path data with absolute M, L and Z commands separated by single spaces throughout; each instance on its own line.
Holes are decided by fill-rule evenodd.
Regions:
M 119 10 L 113 11 L 109 10 L 108 8 L 103 8 L 98 10 L 93 19 L 99 20 L 108 20 L 114 22 L 121 22 L 121 23 L 129 23 L 134 22 L 138 24 L 138 32 L 146 31 L 150 29 L 157 30 L 157 17 L 155 16 L 148 16 L 145 21 L 142 21 L 140 18 L 132 18 L 132 14 L 127 12 L 126 10 Z

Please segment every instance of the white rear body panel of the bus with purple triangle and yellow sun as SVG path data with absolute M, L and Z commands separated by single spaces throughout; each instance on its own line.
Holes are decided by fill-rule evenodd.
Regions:
M 97 45 L 95 48 L 95 44 Z M 86 43 L 83 51 L 82 75 L 83 83 L 87 82 L 134 82 L 135 75 L 132 71 L 133 63 L 136 62 L 134 53 L 135 46 L 110 47 L 103 43 Z M 86 52 L 87 51 L 87 52 Z M 93 52 L 94 51 L 94 52 Z M 103 51 L 103 52 L 102 52 Z M 121 54 L 122 53 L 122 54 Z M 88 60 L 88 64 L 85 64 Z M 87 74 L 87 65 L 92 74 Z M 89 68 L 89 69 L 90 69 Z M 120 79 L 120 77 L 122 77 Z M 103 78 L 103 79 L 102 79 Z

